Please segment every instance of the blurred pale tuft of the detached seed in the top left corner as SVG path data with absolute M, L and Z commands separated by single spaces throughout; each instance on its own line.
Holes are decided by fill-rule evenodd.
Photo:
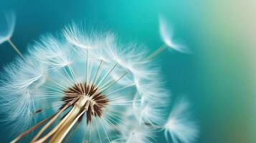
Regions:
M 15 22 L 16 17 L 13 11 L 0 14 L 0 44 L 11 38 Z

